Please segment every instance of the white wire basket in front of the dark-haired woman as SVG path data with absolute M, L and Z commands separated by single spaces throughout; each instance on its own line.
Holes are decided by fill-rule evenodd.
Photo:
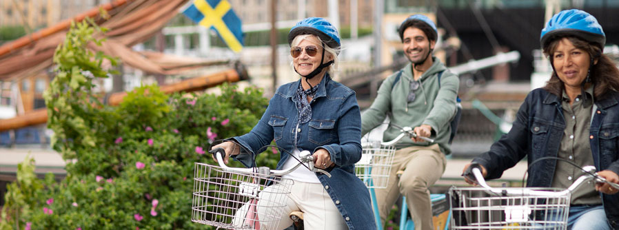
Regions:
M 562 191 L 552 188 L 535 191 Z M 449 229 L 567 229 L 570 194 L 561 196 L 503 196 L 480 187 L 449 189 Z

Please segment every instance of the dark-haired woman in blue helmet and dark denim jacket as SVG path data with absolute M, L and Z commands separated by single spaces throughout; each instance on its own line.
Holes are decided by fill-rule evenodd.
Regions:
M 500 178 L 528 156 L 528 187 L 569 187 L 584 174 L 571 164 L 594 165 L 600 176 L 619 182 L 619 70 L 602 54 L 605 41 L 602 26 L 582 10 L 548 21 L 540 43 L 554 72 L 545 87 L 529 93 L 509 133 L 473 160 L 486 178 Z M 533 163 L 542 157 L 552 160 Z M 568 229 L 618 229 L 616 193 L 607 183 L 576 189 Z

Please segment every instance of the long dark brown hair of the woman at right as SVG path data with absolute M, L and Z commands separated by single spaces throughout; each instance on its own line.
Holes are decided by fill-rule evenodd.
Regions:
M 544 54 L 549 58 L 551 65 L 553 65 L 552 54 L 556 51 L 558 43 L 563 38 L 568 39 L 576 48 L 585 50 L 593 59 L 597 59 L 598 63 L 590 67 L 591 74 L 589 75 L 591 83 L 593 83 L 593 97 L 596 100 L 605 98 L 609 90 L 619 91 L 619 69 L 617 69 L 615 63 L 607 55 L 602 53 L 602 48 L 599 44 L 589 43 L 577 36 L 557 37 L 544 48 Z M 565 90 L 565 85 L 557 76 L 554 68 L 550 80 L 547 81 L 543 89 L 559 97 L 562 95 L 563 90 Z

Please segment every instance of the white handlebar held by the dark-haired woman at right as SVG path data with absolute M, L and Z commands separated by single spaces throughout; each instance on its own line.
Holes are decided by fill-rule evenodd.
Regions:
M 471 164 L 467 170 L 465 171 L 464 175 L 466 178 L 468 178 L 471 181 L 477 182 L 478 185 L 480 185 L 481 187 L 487 189 L 488 193 L 491 194 L 502 194 L 503 196 L 527 196 L 527 195 L 531 195 L 531 196 L 565 196 L 568 193 L 571 193 L 572 191 L 574 191 L 576 188 L 578 188 L 578 186 L 580 186 L 583 182 L 588 181 L 588 180 L 596 180 L 596 182 L 605 182 L 608 183 L 609 185 L 611 185 L 612 187 L 619 189 L 619 185 L 613 182 L 609 182 L 607 181 L 605 178 L 601 178 L 598 176 L 598 174 L 596 173 L 596 167 L 594 166 L 585 166 L 582 167 L 582 171 L 585 172 L 589 172 L 588 174 L 582 175 L 580 176 L 578 179 L 576 179 L 576 181 L 574 181 L 574 183 L 572 183 L 567 189 L 562 190 L 562 191 L 540 191 L 540 190 L 535 190 L 535 189 L 527 189 L 527 188 L 522 188 L 522 189 L 499 189 L 499 188 L 493 188 L 490 187 L 487 183 L 486 180 L 481 172 L 481 166 L 477 163 L 473 163 Z M 471 175 L 472 174 L 472 175 Z

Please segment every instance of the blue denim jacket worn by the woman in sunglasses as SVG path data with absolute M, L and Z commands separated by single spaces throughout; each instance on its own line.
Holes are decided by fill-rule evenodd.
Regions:
M 376 229 L 369 192 L 354 174 L 354 163 L 361 159 L 361 112 L 354 91 L 326 75 L 310 103 L 312 118 L 298 124 L 294 94 L 300 83 L 295 81 L 279 87 L 254 129 L 234 140 L 252 152 L 269 145 L 271 140 L 290 152 L 295 147 L 312 152 L 326 149 L 336 166 L 329 171 L 331 178 L 316 174 L 318 180 L 349 229 Z M 295 134 L 298 135 L 296 143 Z M 277 169 L 281 169 L 289 157 L 282 152 Z M 246 166 L 252 165 L 249 154 L 237 155 L 236 160 Z

